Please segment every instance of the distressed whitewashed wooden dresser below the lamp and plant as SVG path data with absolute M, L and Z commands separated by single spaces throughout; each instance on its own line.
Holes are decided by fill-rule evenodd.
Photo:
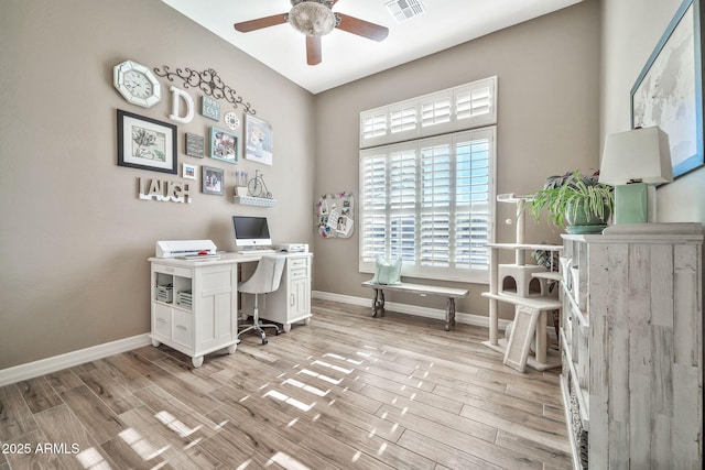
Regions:
M 563 236 L 562 391 L 576 468 L 699 469 L 699 223 Z

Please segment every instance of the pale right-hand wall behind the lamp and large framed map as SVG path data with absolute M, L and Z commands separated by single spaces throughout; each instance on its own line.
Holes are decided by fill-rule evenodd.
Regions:
M 600 136 L 629 130 L 629 92 L 681 0 L 603 0 Z M 699 130 L 703 132 L 703 130 Z M 663 222 L 705 222 L 705 171 L 657 190 Z

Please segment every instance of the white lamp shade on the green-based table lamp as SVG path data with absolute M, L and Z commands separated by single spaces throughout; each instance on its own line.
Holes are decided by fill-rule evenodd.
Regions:
M 673 181 L 669 134 L 659 127 L 607 135 L 599 182 L 610 186 L 630 182 Z

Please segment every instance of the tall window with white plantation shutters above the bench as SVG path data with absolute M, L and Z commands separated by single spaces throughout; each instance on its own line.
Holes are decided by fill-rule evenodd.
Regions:
M 419 132 L 456 122 L 458 114 L 494 119 L 487 117 L 494 88 L 458 88 L 464 89 L 361 113 L 360 141 L 394 140 L 412 127 Z M 410 106 L 412 101 L 417 106 Z M 380 255 L 401 256 L 404 275 L 488 281 L 495 135 L 491 125 L 360 150 L 361 272 L 372 272 Z

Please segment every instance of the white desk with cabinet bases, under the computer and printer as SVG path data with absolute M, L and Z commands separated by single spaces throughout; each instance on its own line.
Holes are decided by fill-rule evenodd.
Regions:
M 243 263 L 267 253 L 221 253 L 218 259 L 150 258 L 151 335 L 192 358 L 194 367 L 220 349 L 234 353 L 238 334 L 238 273 Z M 260 318 L 283 325 L 311 321 L 312 253 L 285 253 L 286 265 L 276 292 L 260 307 Z M 171 289 L 164 286 L 171 285 Z M 187 293 L 191 293 L 188 295 Z

